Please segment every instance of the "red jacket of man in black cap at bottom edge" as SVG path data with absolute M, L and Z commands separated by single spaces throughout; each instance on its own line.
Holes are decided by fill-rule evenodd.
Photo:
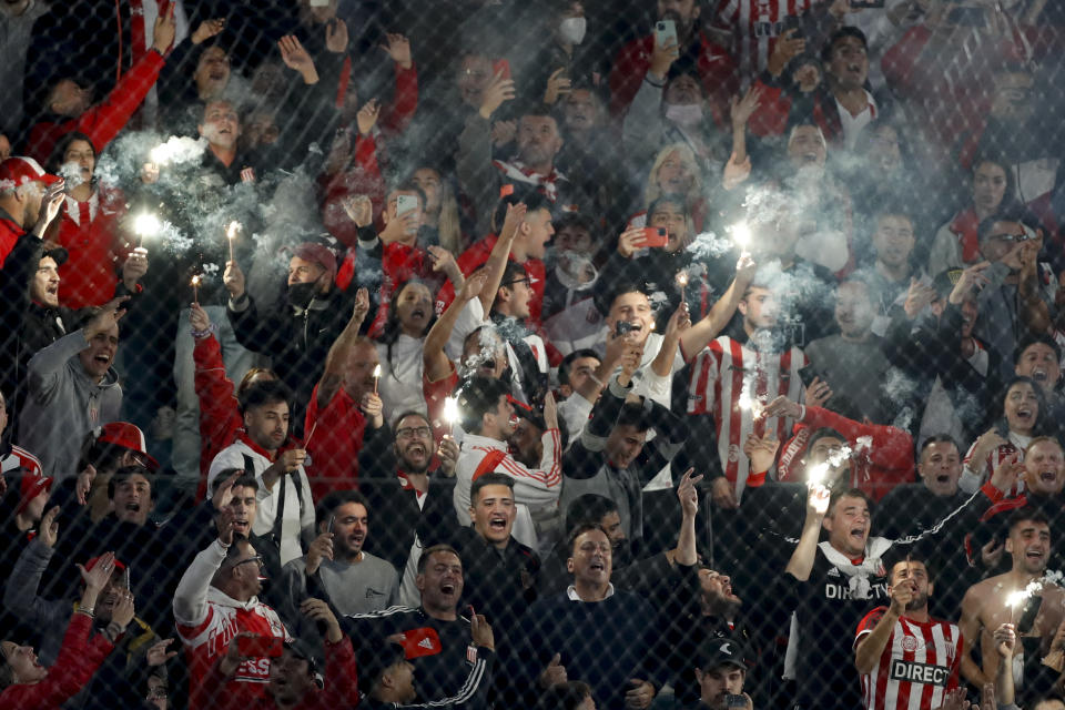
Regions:
M 276 710 L 277 704 L 270 696 L 257 698 L 248 703 L 247 698 L 226 692 L 229 679 L 219 671 L 219 665 L 212 666 L 203 679 L 201 690 L 204 698 L 211 698 L 212 710 Z M 358 704 L 358 672 L 355 666 L 355 651 L 352 639 L 345 636 L 339 643 L 325 642 L 325 688 L 312 688 L 293 710 L 339 710 Z

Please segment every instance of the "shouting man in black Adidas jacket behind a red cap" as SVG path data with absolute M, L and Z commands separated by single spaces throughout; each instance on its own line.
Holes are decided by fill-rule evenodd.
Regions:
M 470 658 L 470 622 L 458 613 L 465 577 L 458 552 L 434 545 L 418 560 L 418 608 L 389 607 L 374 613 L 344 617 L 341 625 L 355 641 L 359 668 L 373 666 L 389 637 L 402 637 L 406 659 L 418 677 L 418 698 L 432 701 L 459 693 L 477 658 Z

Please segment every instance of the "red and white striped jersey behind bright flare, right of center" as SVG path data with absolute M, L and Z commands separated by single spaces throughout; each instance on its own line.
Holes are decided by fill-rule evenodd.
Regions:
M 688 414 L 712 415 L 718 434 L 718 455 L 737 496 L 747 487 L 751 462 L 743 454 L 748 434 L 772 435 L 788 440 L 792 419 L 763 417 L 765 405 L 780 395 L 800 402 L 805 388 L 799 371 L 808 364 L 795 346 L 779 353 L 761 353 L 722 335 L 699 353 L 688 386 Z

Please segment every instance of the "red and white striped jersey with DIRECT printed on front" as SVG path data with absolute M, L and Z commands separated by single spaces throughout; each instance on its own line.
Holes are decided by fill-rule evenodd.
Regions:
M 858 625 L 854 646 L 872 633 L 888 607 L 876 607 Z M 954 623 L 906 617 L 895 621 L 880 662 L 862 676 L 866 710 L 926 710 L 943 704 L 957 688 L 962 631 Z

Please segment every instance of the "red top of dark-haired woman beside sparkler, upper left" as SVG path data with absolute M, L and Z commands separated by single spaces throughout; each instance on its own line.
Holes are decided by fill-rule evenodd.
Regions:
M 114 295 L 130 247 L 120 236 L 125 214 L 120 190 L 97 190 L 88 202 L 67 197 L 59 219 L 59 244 L 70 260 L 59 267 L 59 298 L 69 308 L 99 306 Z

